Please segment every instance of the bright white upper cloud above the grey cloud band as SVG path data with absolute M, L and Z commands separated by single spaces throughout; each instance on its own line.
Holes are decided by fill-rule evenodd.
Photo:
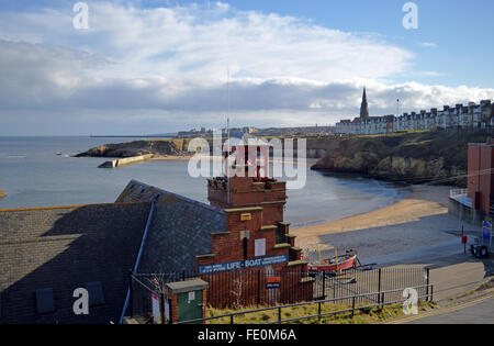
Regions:
M 71 27 L 70 11 L 23 13 L 22 26 L 15 14 L 5 13 L 0 33 L 103 54 L 119 63 L 105 76 L 223 80 L 229 67 L 234 78 L 382 78 L 403 71 L 413 56 L 380 35 L 237 11 L 221 2 L 159 9 L 92 2 L 89 14 L 90 30 L 83 32 Z

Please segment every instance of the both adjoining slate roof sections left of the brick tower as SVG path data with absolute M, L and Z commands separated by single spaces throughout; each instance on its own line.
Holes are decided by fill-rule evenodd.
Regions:
M 226 230 L 225 212 L 143 182 L 113 204 L 0 210 L 0 324 L 117 323 L 153 201 L 137 271 L 194 271 L 211 233 Z M 98 282 L 104 303 L 75 315 L 74 290 Z M 55 311 L 40 314 L 36 292 L 53 297 Z

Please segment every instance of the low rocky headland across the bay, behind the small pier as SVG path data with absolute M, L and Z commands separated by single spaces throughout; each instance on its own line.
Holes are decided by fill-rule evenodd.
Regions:
M 173 141 L 135 141 L 104 144 L 81 153 L 77 157 L 132 157 L 147 154 L 180 155 L 182 150 Z

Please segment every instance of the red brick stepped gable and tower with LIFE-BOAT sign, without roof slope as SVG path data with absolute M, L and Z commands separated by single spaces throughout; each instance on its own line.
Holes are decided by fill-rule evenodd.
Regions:
M 261 304 L 271 299 L 311 300 L 312 281 L 303 276 L 307 264 L 301 260 L 302 249 L 295 247 L 290 225 L 283 222 L 287 185 L 268 178 L 267 159 L 249 161 L 247 146 L 231 148 L 244 149 L 245 156 L 240 155 L 235 166 L 245 167 L 246 176 L 250 168 L 255 177 L 217 177 L 207 181 L 207 199 L 211 205 L 225 211 L 227 231 L 212 234 L 212 254 L 197 256 L 197 272 L 210 282 L 212 292 L 227 282 L 220 305 L 238 300 L 239 295 L 244 305 L 256 300 Z M 268 149 L 257 146 L 254 153 L 268 157 Z M 270 282 L 276 288 L 269 288 Z M 217 298 L 210 298 L 218 302 Z

